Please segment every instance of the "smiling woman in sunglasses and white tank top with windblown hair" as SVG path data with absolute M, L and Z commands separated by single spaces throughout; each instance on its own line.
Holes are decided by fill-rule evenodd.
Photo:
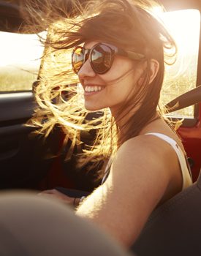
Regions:
M 42 74 L 36 92 L 41 108 L 32 119 L 42 132 L 62 125 L 72 148 L 79 146 L 80 131 L 96 125 L 96 140 L 83 152 L 84 162 L 110 160 L 102 185 L 79 203 L 76 214 L 91 219 L 124 246 L 134 243 L 156 206 L 191 184 L 181 140 L 159 108 L 164 62 L 175 58 L 176 46 L 148 9 L 153 4 L 89 1 L 84 10 L 78 6 L 80 12 L 72 8 L 69 18 L 60 10 L 62 17 L 56 17 L 46 42 L 54 49 L 46 59 L 54 69 Z M 67 71 L 62 50 L 72 51 L 72 69 L 83 91 L 67 86 L 77 80 Z M 55 90 L 58 85 L 60 91 Z M 61 97 L 61 104 L 54 105 L 51 100 L 64 90 L 73 91 L 72 97 L 67 102 Z M 98 120 L 85 119 L 97 110 L 103 111 Z M 44 115 L 45 121 L 39 118 Z M 75 202 L 55 190 L 45 193 Z

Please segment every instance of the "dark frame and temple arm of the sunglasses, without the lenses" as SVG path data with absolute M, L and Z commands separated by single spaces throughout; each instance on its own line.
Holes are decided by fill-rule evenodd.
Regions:
M 100 71 L 98 71 L 94 68 L 94 64 L 93 64 L 93 61 L 91 59 L 91 53 L 93 52 L 94 48 L 96 48 L 98 45 L 99 46 L 102 46 L 102 45 L 107 46 L 107 48 L 110 49 L 110 57 L 111 57 L 110 58 L 110 66 L 102 72 L 100 72 Z M 81 50 L 84 50 L 83 64 L 85 64 L 85 62 L 89 59 L 89 62 L 91 64 L 91 68 L 94 70 L 94 72 L 96 74 L 99 74 L 99 75 L 105 74 L 106 72 L 108 72 L 110 70 L 110 68 L 113 66 L 113 61 L 114 61 L 116 55 L 124 56 L 124 57 L 127 57 L 129 59 L 133 59 L 133 60 L 143 60 L 143 59 L 145 59 L 145 55 L 143 55 L 142 53 L 135 53 L 135 52 L 132 52 L 132 51 L 129 51 L 129 50 L 122 50 L 121 48 L 118 48 L 115 45 L 110 45 L 110 44 L 107 44 L 105 42 L 98 42 L 91 49 L 85 49 L 83 46 L 78 45 L 77 47 L 75 47 L 72 50 L 72 69 L 75 72 L 75 74 L 78 74 L 81 67 L 83 67 L 83 64 L 82 64 L 80 66 L 80 68 L 78 69 L 78 71 L 77 71 L 75 69 L 74 65 L 73 65 L 73 56 L 74 56 L 75 50 L 77 50 L 78 48 L 80 48 Z

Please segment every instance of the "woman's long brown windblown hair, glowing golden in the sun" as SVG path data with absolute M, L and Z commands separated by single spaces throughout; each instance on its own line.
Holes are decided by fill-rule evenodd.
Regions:
M 39 127 L 37 131 L 45 136 L 55 125 L 62 127 L 65 142 L 71 140 L 67 157 L 75 146 L 82 146 L 83 134 L 93 129 L 94 143 L 83 149 L 82 159 L 84 162 L 108 159 L 122 143 L 137 136 L 156 111 L 160 112 L 164 63 L 174 63 L 175 42 L 162 22 L 151 13 L 156 3 L 150 0 L 70 1 L 68 6 L 60 1 L 51 4 L 47 1 L 43 7 L 36 6 L 36 1 L 33 3 L 34 6 L 29 1 L 26 18 L 38 31 L 48 31 L 48 37 L 44 40 L 45 56 L 35 89 L 39 108 L 29 125 Z M 108 108 L 101 110 L 99 118 L 88 120 L 89 111 L 84 108 L 83 92 L 77 86 L 79 81 L 70 63 L 72 48 L 86 41 L 108 42 L 145 55 L 143 85 L 137 94 L 134 89 L 131 91 L 134 97 L 121 106 L 121 118 L 139 104 L 140 108 L 124 124 L 128 132 L 121 138 L 118 138 L 117 120 Z M 149 84 L 151 59 L 159 62 L 159 72 Z

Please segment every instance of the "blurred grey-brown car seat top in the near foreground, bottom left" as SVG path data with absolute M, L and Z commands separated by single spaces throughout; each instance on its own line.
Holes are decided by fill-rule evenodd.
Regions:
M 134 256 L 58 200 L 1 192 L 0 208 L 0 255 Z

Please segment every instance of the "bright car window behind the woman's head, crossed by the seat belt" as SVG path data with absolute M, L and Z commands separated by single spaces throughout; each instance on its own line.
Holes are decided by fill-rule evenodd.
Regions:
M 178 45 L 177 61 L 165 67 L 162 104 L 194 89 L 197 85 L 197 63 L 200 42 L 200 12 L 180 10 L 167 12 L 162 20 Z M 194 117 L 194 106 L 171 113 L 171 116 Z

